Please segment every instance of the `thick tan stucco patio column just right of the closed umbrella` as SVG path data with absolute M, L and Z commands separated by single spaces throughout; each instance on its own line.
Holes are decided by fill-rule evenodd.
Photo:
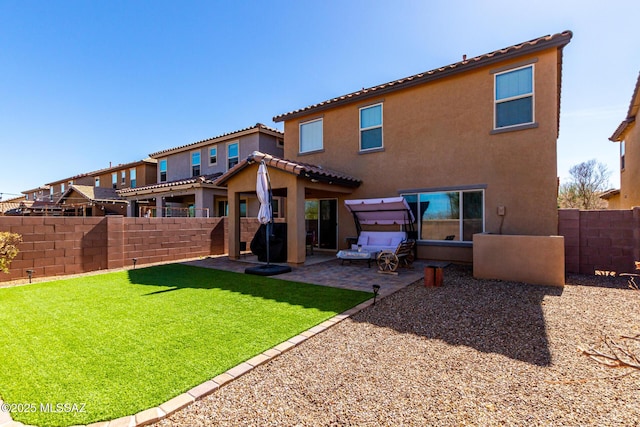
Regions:
M 287 262 L 304 264 L 306 231 L 304 223 L 304 185 L 295 180 L 287 188 Z

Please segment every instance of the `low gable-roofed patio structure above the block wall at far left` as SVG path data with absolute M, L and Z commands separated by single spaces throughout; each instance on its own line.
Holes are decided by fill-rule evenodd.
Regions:
M 63 216 L 125 215 L 127 201 L 114 188 L 73 184 L 56 200 Z

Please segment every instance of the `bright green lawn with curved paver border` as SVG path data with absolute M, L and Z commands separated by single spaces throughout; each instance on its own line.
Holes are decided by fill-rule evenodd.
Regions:
M 40 426 L 132 415 L 370 297 L 181 264 L 0 289 L 0 398 Z

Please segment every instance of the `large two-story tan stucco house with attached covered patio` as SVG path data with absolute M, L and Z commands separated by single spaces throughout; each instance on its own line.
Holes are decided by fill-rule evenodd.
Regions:
M 418 256 L 470 262 L 475 233 L 557 234 L 562 50 L 570 31 L 540 37 L 274 117 L 286 161 L 261 154 L 217 183 L 229 192 L 229 255 L 239 256 L 241 195 L 257 163 L 286 196 L 287 260 L 346 247 L 345 199 L 404 196 Z M 397 229 L 397 228 L 396 228 Z

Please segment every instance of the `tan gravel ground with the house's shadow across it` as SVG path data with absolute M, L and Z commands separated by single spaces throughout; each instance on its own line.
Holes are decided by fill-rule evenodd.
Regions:
M 558 289 L 450 266 L 444 286 L 378 300 L 157 425 L 640 425 L 640 371 L 578 351 L 638 333 L 623 278 Z

